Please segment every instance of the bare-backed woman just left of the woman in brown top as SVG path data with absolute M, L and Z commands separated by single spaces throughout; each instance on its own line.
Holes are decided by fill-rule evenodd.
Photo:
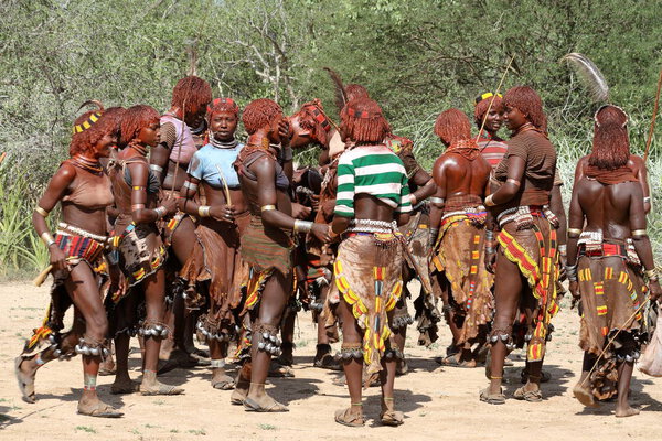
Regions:
M 484 266 L 487 212 L 483 198 L 492 168 L 471 138 L 469 118 L 448 109 L 435 133 L 447 147 L 433 168 L 437 193 L 431 200 L 433 280 L 444 300 L 456 354 L 442 364 L 476 367 L 492 320 L 492 281 Z

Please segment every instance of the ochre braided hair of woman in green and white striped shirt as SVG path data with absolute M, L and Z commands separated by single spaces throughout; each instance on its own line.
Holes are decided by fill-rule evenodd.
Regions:
M 382 108 L 366 97 L 348 103 L 340 119 L 345 137 L 357 144 L 381 143 L 391 133 Z

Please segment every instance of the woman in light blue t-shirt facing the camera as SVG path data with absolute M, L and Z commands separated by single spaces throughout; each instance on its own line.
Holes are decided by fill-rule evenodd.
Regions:
M 181 275 L 189 282 L 209 282 L 209 310 L 200 316 L 197 329 L 210 347 L 212 387 L 216 389 L 234 388 L 234 379 L 225 374 L 224 366 L 228 342 L 236 336 L 233 309 L 242 301 L 242 282 L 248 272 L 239 256 L 239 237 L 249 222 L 248 207 L 232 166 L 244 148 L 234 137 L 238 116 L 234 100 L 214 99 L 207 110 L 210 143 L 193 154 L 180 200 L 182 211 L 200 219 L 193 252 Z M 206 205 L 194 198 L 199 187 L 204 191 Z

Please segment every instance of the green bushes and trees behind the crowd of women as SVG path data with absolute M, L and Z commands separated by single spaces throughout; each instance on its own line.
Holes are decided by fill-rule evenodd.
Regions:
M 0 272 L 47 259 L 30 215 L 66 158 L 79 104 L 166 110 L 191 49 L 215 96 L 241 105 L 270 97 L 290 111 L 319 97 L 335 112 L 322 71 L 333 67 L 369 88 L 427 168 L 441 150 L 436 115 L 451 106 L 471 114 L 473 97 L 495 87 L 514 55 L 504 90 L 528 84 L 542 95 L 567 200 L 597 105 L 558 60 L 581 52 L 600 66 L 641 154 L 662 61 L 660 17 L 662 2 L 638 0 L 3 0 Z M 656 204 L 659 139 L 649 163 Z M 656 208 L 649 220 L 660 257 Z

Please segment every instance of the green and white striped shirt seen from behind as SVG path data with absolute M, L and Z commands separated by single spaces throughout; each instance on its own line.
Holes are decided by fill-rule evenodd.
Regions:
M 362 193 L 378 198 L 396 213 L 412 211 L 407 172 L 386 146 L 359 146 L 340 157 L 334 214 L 354 217 L 354 196 Z

